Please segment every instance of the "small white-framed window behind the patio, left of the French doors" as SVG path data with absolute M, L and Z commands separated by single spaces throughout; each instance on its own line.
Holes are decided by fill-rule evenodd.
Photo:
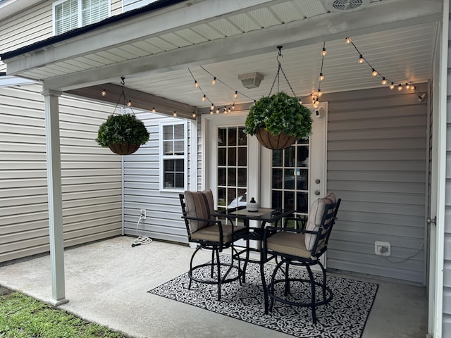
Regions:
M 160 190 L 183 191 L 188 180 L 187 121 L 161 122 Z

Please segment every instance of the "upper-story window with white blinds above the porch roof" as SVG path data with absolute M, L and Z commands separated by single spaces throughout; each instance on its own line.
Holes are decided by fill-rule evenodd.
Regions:
M 111 0 L 59 0 L 53 4 L 54 35 L 108 18 Z

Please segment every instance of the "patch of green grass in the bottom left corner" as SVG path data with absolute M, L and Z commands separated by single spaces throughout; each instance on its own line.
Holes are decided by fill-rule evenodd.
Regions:
M 0 338 L 127 338 L 18 292 L 0 293 Z

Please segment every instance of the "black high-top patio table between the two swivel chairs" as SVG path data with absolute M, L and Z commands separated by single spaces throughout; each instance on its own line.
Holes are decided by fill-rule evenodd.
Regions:
M 261 241 L 263 239 L 264 228 L 266 224 L 278 223 L 285 217 L 289 217 L 295 213 L 294 210 L 291 209 L 278 209 L 278 208 L 259 208 L 258 211 L 248 211 L 244 206 L 238 208 L 230 208 L 225 211 L 217 211 L 216 213 L 211 214 L 215 217 L 223 217 L 228 218 L 230 220 L 238 219 L 242 220 L 244 225 L 247 227 L 247 232 L 242 232 L 238 234 L 241 239 L 245 239 L 246 246 L 241 251 L 237 252 L 237 258 L 242 259 L 241 255 L 245 253 L 245 258 L 242 259 L 244 261 L 243 265 L 243 273 L 242 273 L 242 282 L 246 282 L 246 268 L 247 263 L 258 263 L 260 266 L 260 275 L 261 275 L 261 284 L 266 289 L 266 279 L 264 275 L 264 264 L 268 261 L 271 261 L 273 256 L 268 256 L 264 258 L 263 253 L 261 251 Z M 251 225 L 251 220 L 257 221 L 257 225 Z M 249 246 L 249 241 L 254 240 L 257 241 L 257 248 L 252 248 Z M 259 258 L 250 258 L 249 253 L 251 252 L 259 252 Z M 267 295 L 265 294 L 265 304 L 267 304 Z M 265 313 L 268 312 L 268 309 L 265 305 Z

